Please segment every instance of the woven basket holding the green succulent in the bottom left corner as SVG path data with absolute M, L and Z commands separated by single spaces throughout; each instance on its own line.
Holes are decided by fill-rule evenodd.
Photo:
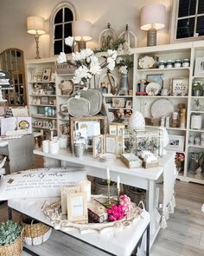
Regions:
M 16 241 L 7 246 L 0 246 L 1 256 L 21 256 L 23 247 L 23 229 Z

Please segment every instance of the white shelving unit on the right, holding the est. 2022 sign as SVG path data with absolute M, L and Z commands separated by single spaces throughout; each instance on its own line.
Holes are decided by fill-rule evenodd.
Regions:
M 185 154 L 185 165 L 183 174 L 179 174 L 179 179 L 182 181 L 192 181 L 204 184 L 204 179 L 196 179 L 194 174 L 188 172 L 189 158 L 192 152 L 204 153 L 204 147 L 189 145 L 188 138 L 189 135 L 201 136 L 204 132 L 204 108 L 201 111 L 194 111 L 193 104 L 195 99 L 200 99 L 201 105 L 204 106 L 204 96 L 195 97 L 192 96 L 192 83 L 194 81 L 204 82 L 204 76 L 194 76 L 194 62 L 196 57 L 204 57 L 204 42 L 194 42 L 194 43 L 176 43 L 162 46 L 154 46 L 148 48 L 135 49 L 134 53 L 134 79 L 135 88 L 133 89 L 133 109 L 137 109 L 143 113 L 145 117 L 151 117 L 150 108 L 153 102 L 158 99 L 167 99 L 174 105 L 174 110 L 177 110 L 179 103 L 185 103 L 187 108 L 187 123 L 186 128 L 167 128 L 169 135 L 183 135 L 185 136 L 185 145 L 183 151 L 176 151 L 178 153 Z M 158 56 L 159 60 L 175 60 L 175 59 L 190 59 L 190 67 L 188 68 L 172 68 L 172 69 L 137 69 L 137 62 L 139 56 Z M 149 96 L 149 95 L 137 95 L 137 82 L 140 79 L 146 79 L 146 75 L 157 75 L 163 74 L 164 82 L 163 88 L 170 90 L 170 83 L 172 78 L 188 78 L 188 95 L 186 96 Z M 165 108 L 165 106 L 163 106 Z M 192 114 L 203 115 L 203 126 L 200 130 L 191 129 L 190 119 Z

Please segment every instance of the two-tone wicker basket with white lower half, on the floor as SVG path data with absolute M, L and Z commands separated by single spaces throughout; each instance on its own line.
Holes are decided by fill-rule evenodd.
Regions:
M 21 224 L 24 227 L 24 242 L 29 246 L 39 246 L 47 241 L 52 233 L 52 228 L 41 222 L 36 223 L 35 220 L 31 220 L 31 223 L 28 224 L 28 220 L 21 217 Z

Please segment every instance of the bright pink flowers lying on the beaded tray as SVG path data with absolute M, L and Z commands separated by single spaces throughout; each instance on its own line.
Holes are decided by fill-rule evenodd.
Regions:
M 126 195 L 120 195 L 119 204 L 112 205 L 112 207 L 107 209 L 108 220 L 115 221 L 121 220 L 124 216 L 131 210 L 131 199 Z

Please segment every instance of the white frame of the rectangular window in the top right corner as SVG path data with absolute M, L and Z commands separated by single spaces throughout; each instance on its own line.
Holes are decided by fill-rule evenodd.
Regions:
M 172 0 L 173 3 L 172 3 L 172 9 L 171 9 L 170 29 L 169 29 L 170 43 L 183 43 L 183 42 L 192 42 L 192 41 L 204 40 L 204 36 L 192 36 L 192 37 L 176 39 L 178 20 L 184 19 L 184 18 L 187 18 L 187 17 L 194 17 L 195 18 L 194 33 L 196 33 L 197 17 L 198 16 L 204 16 L 203 14 L 195 13 L 195 15 L 182 16 L 182 18 L 178 18 L 179 1 L 180 0 Z M 198 8 L 198 1 L 199 0 L 196 0 L 196 7 L 195 7 L 196 11 L 197 11 L 197 8 Z

